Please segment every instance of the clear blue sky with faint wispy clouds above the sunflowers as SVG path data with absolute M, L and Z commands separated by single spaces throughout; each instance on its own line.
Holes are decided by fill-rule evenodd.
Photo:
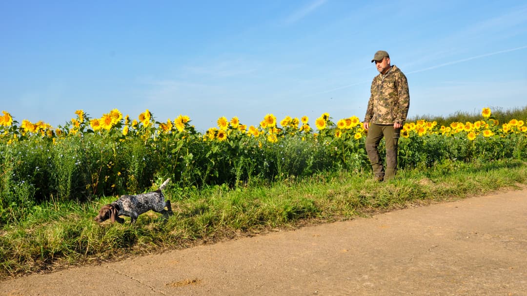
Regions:
M 409 116 L 527 105 L 525 1 L 2 1 L 0 110 L 257 125 L 364 118 L 370 63 L 408 78 Z

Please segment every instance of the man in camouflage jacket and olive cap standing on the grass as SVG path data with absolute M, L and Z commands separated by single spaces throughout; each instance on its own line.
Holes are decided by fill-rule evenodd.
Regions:
M 410 94 L 406 76 L 395 65 L 390 65 L 387 52 L 376 52 L 373 62 L 380 74 L 373 78 L 364 129 L 368 132 L 366 152 L 375 180 L 380 182 L 393 179 L 397 173 L 397 145 L 408 114 Z M 383 137 L 386 141 L 386 170 L 378 151 Z

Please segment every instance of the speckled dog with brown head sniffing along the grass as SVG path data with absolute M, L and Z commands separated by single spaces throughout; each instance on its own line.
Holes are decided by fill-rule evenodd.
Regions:
M 152 192 L 137 194 L 137 195 L 122 195 L 118 200 L 105 204 L 99 211 L 99 215 L 95 217 L 95 221 L 103 222 L 105 220 L 112 220 L 112 222 L 123 223 L 124 219 L 119 216 L 130 217 L 130 223 L 135 223 L 138 216 L 150 210 L 162 214 L 172 214 L 172 206 L 170 201 L 165 201 L 161 190 L 165 188 L 170 179 L 159 186 L 159 189 Z M 168 210 L 164 208 L 167 207 Z

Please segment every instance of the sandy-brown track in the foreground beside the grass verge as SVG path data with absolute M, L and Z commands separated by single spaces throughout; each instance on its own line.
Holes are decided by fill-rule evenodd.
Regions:
M 31 275 L 0 295 L 527 295 L 527 190 Z

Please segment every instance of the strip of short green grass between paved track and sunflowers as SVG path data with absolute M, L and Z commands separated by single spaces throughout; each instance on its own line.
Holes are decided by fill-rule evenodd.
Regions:
M 50 201 L 0 230 L 0 279 L 126 256 L 181 249 L 239 236 L 294 229 L 373 213 L 523 188 L 527 165 L 519 160 L 444 162 L 427 170 L 399 171 L 378 183 L 365 174 L 319 173 L 272 185 L 214 186 L 165 195 L 174 215 L 146 213 L 135 225 L 93 221 L 108 196 L 92 203 Z

